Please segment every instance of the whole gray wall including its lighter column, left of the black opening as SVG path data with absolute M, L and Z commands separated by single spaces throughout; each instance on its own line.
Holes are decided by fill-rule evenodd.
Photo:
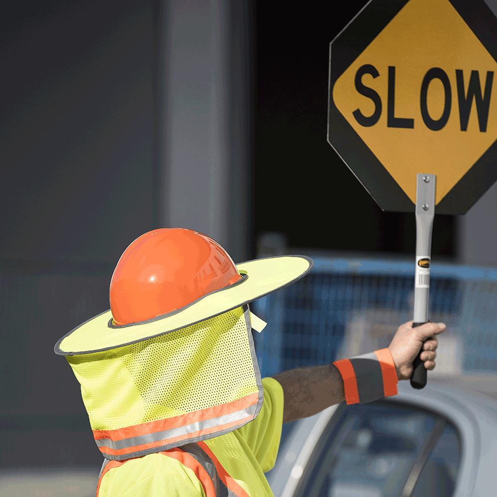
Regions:
M 243 3 L 4 6 L 0 466 L 98 467 L 79 385 L 53 346 L 108 308 L 131 241 L 184 226 L 247 255 Z

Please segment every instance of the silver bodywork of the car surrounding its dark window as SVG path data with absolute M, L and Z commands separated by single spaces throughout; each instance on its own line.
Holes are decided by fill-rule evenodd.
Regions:
M 399 382 L 399 395 L 385 400 L 425 408 L 452 421 L 462 436 L 465 455 L 464 472 L 459 481 L 462 490 L 454 495 L 470 495 L 467 492 L 470 488 L 476 492 L 473 495 L 488 495 L 482 489 L 490 488 L 489 482 L 495 474 L 497 375 L 441 376 L 430 373 L 423 390 L 415 390 L 409 381 L 402 381 Z M 317 440 L 337 407 L 331 406 L 296 421 L 274 472 L 267 475 L 275 495 L 293 495 L 290 489 L 297 485 Z

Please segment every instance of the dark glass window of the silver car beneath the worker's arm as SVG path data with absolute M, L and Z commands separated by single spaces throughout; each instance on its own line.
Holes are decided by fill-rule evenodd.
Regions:
M 421 480 L 429 478 L 421 470 L 428 454 L 434 454 L 433 445 L 440 435 L 437 430 L 441 423 L 440 431 L 445 426 L 445 420 L 436 414 L 389 402 L 347 406 L 333 416 L 331 423 L 327 437 L 313 454 L 312 469 L 303 479 L 305 489 L 301 486 L 298 493 L 301 496 L 399 497 L 406 486 L 407 495 L 411 495 L 413 489 L 407 482 L 410 479 L 414 487 L 419 473 Z M 450 427 L 442 439 L 442 453 L 445 459 L 451 453 L 451 461 L 446 463 L 444 457 L 435 456 L 431 459 L 436 461 L 433 471 L 445 475 L 450 492 L 437 496 L 448 497 L 458 464 L 459 440 Z M 452 449 L 447 451 L 447 447 Z M 420 462 L 416 472 L 415 464 Z M 428 462 L 433 466 L 432 461 Z M 424 485 L 416 485 L 413 497 L 422 489 Z

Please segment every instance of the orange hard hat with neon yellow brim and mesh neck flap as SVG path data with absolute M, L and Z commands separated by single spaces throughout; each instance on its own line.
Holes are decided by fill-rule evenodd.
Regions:
M 81 384 L 102 455 L 140 457 L 253 420 L 263 388 L 251 332 L 260 323 L 248 302 L 311 267 L 300 255 L 236 265 L 191 230 L 136 239 L 112 275 L 111 310 L 55 346 Z

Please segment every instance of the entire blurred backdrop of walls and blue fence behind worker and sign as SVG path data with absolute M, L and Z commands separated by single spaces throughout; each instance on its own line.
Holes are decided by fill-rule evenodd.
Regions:
M 0 496 L 94 493 L 101 456 L 53 345 L 108 309 L 144 232 L 195 229 L 237 262 L 316 259 L 254 304 L 263 375 L 380 348 L 411 319 L 414 215 L 382 212 L 326 140 L 329 43 L 363 4 L 3 5 Z M 486 385 L 496 212 L 494 185 L 435 217 L 432 248 L 430 317 L 450 329 L 438 374 Z

